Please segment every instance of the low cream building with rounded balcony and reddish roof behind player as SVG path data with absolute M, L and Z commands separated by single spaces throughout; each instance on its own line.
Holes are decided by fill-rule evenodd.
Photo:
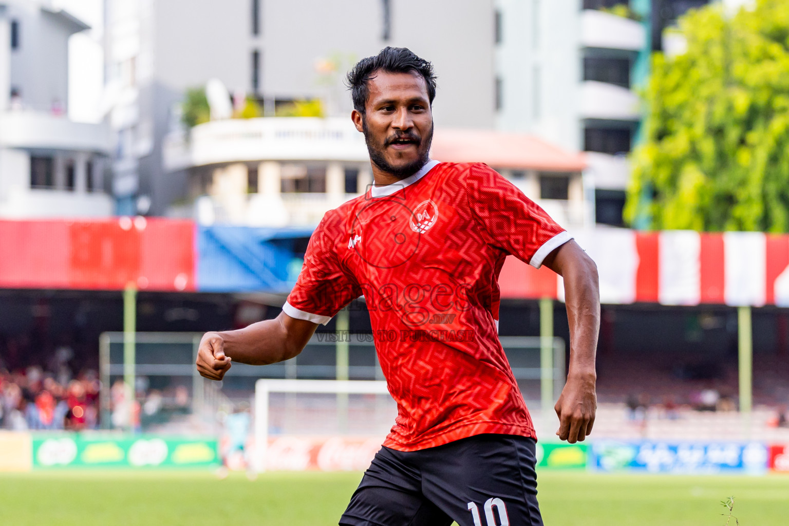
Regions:
M 534 136 L 436 128 L 433 159 L 486 162 L 567 228 L 591 226 L 585 160 Z M 314 226 L 372 183 L 364 136 L 349 118 L 224 119 L 166 137 L 168 172 L 188 174 L 173 215 L 204 225 Z

